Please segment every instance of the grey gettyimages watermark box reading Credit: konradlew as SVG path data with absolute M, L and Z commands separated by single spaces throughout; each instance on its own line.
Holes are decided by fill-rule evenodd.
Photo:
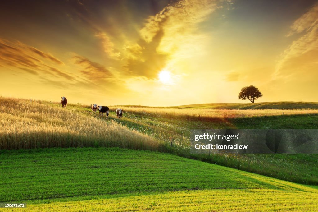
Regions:
M 191 130 L 191 153 L 318 153 L 318 130 Z

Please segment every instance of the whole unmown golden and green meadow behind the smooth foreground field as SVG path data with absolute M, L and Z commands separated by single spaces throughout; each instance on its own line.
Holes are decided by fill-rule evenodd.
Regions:
M 316 110 L 289 110 L 270 116 L 267 110 L 233 110 L 253 116 L 198 117 L 196 109 L 123 107 L 117 119 L 99 117 L 87 105 L 1 97 L 0 149 L 46 147 L 121 147 L 168 152 L 292 182 L 318 185 L 317 154 L 190 154 L 191 129 L 318 129 Z M 204 110 L 204 109 L 200 109 Z M 176 115 L 179 113 L 179 115 Z M 178 112 L 181 111 L 181 112 Z M 182 112 L 183 111 L 183 112 Z M 231 110 L 226 110 L 231 112 Z M 287 110 L 274 110 L 278 114 Z M 181 114 L 181 115 L 180 115 Z M 256 114 L 267 114 L 260 116 Z M 172 146 L 170 147 L 170 142 Z

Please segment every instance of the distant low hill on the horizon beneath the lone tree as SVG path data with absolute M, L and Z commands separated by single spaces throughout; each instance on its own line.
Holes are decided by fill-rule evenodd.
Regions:
M 318 102 L 207 103 L 173 106 L 179 109 L 318 109 Z

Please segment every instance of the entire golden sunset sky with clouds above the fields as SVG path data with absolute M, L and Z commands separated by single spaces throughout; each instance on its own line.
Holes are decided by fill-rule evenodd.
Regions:
M 3 1 L 0 95 L 99 105 L 318 102 L 318 1 Z

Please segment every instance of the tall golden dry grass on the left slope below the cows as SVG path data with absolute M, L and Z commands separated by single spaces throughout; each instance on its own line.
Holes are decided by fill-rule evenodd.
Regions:
M 162 143 L 71 108 L 0 97 L 0 149 L 84 146 L 160 150 Z

